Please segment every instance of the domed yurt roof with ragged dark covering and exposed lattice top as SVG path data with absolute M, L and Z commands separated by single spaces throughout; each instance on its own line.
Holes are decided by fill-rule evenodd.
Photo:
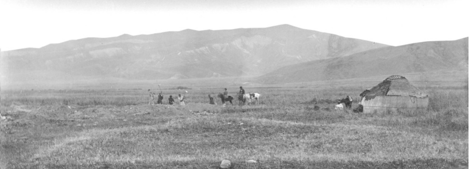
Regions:
M 363 91 L 360 96 L 413 96 L 423 98 L 428 95 L 413 86 L 405 77 L 393 75 L 376 86 Z

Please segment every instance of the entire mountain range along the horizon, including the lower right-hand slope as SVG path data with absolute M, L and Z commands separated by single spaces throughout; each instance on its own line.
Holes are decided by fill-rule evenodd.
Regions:
M 394 47 L 283 24 L 84 38 L 1 56 L 2 80 L 9 84 L 247 76 L 266 84 L 435 71 L 468 74 L 468 37 Z

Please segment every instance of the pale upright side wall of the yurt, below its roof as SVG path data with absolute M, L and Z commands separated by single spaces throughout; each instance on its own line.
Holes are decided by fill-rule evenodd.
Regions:
M 426 110 L 429 97 L 413 96 L 375 96 L 373 99 L 361 101 L 363 113 L 408 112 Z

